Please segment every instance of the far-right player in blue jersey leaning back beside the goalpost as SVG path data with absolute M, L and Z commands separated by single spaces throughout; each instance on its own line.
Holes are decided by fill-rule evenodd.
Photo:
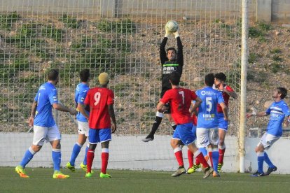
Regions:
M 251 116 L 263 117 L 270 115 L 267 130 L 255 148 L 258 157 L 258 171 L 251 175 L 253 177 L 268 176 L 270 173 L 277 170 L 277 166 L 272 164 L 265 150 L 268 150 L 282 136 L 282 122 L 284 117 L 290 120 L 289 107 L 283 100 L 286 95 L 287 90 L 284 87 L 277 87 L 272 95 L 274 102 L 265 112 L 247 113 L 248 118 Z M 268 164 L 268 171 L 265 173 L 263 172 L 264 161 Z

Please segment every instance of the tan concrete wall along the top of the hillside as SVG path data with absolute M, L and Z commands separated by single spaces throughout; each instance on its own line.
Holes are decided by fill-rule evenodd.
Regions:
M 197 20 L 240 17 L 242 0 L 10 0 L 2 1 L 0 12 L 85 14 L 102 17 L 193 17 Z M 228 11 L 230 10 L 230 11 Z M 290 22 L 289 0 L 249 0 L 249 18 Z

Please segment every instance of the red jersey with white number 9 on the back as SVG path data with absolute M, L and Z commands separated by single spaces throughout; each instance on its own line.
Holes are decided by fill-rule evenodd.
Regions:
M 114 94 L 112 90 L 104 87 L 92 88 L 88 91 L 84 103 L 90 106 L 90 129 L 111 128 L 109 105 L 114 103 Z

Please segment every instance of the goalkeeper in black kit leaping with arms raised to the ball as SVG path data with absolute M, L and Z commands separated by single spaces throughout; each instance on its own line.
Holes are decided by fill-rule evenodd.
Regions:
M 182 74 L 182 68 L 184 66 L 184 54 L 182 51 L 182 43 L 181 39 L 179 37 L 179 31 L 173 33 L 175 38 L 177 39 L 177 50 L 175 48 L 167 48 L 165 50 L 165 45 L 168 40 L 168 36 L 170 36 L 170 32 L 166 30 L 165 37 L 163 38 L 163 41 L 160 45 L 160 62 L 162 67 L 162 90 L 161 90 L 161 98 L 165 94 L 167 90 L 172 89 L 170 84 L 170 74 L 173 71 L 177 71 L 180 75 Z M 166 114 L 167 119 L 171 122 L 172 128 L 175 129 L 176 125 L 174 124 L 172 117 L 170 115 L 170 104 L 167 103 L 165 105 L 167 107 L 167 110 L 165 110 L 164 113 L 156 112 L 155 121 L 153 123 L 151 132 L 146 138 L 143 138 L 142 141 L 149 142 L 153 141 L 154 134 L 156 133 L 156 130 L 158 129 L 164 114 Z

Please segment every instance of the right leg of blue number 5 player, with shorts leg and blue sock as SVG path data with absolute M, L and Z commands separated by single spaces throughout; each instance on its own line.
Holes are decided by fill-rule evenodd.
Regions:
M 213 176 L 218 177 L 218 164 L 219 164 L 219 129 L 209 129 L 209 143 L 212 146 L 212 168 L 214 169 Z

